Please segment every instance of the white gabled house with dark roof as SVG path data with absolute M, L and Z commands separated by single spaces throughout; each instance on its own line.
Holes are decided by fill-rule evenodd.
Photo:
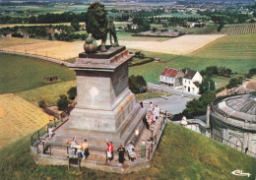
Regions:
M 183 90 L 191 93 L 199 93 L 199 86 L 203 78 L 198 71 L 186 70 L 182 80 Z

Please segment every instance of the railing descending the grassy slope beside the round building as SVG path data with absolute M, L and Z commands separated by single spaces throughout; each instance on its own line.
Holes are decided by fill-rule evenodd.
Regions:
M 189 125 L 192 125 L 192 126 L 189 126 Z M 186 128 L 192 130 L 192 131 L 196 131 L 197 133 L 200 133 L 201 135 L 204 135 L 204 136 L 207 136 L 207 133 L 208 133 L 208 136 L 207 137 L 210 137 L 211 139 L 215 140 L 215 141 L 218 141 L 218 142 L 225 142 L 223 143 L 224 145 L 230 147 L 230 148 L 235 148 L 236 150 L 240 150 L 241 152 L 245 152 L 246 154 L 249 154 L 253 157 L 256 157 L 256 153 L 251 151 L 251 150 L 248 150 L 247 148 L 243 148 L 242 145 L 238 145 L 238 144 L 235 144 L 235 143 L 232 143 L 226 139 L 223 138 L 223 136 L 220 136 L 214 132 L 207 132 L 207 131 L 202 131 L 204 128 L 201 127 L 200 128 L 200 125 L 199 124 L 194 124 L 194 123 L 189 123 L 187 126 L 185 126 Z M 194 127 L 194 128 L 193 128 Z

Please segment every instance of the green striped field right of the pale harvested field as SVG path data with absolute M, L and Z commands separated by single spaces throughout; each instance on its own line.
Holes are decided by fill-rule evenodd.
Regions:
M 191 55 L 205 58 L 254 59 L 256 63 L 256 33 L 225 35 Z M 252 67 L 255 66 L 256 64 Z

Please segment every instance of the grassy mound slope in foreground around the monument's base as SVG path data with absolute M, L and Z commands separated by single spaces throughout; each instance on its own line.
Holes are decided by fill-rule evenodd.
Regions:
M 0 150 L 0 179 L 237 179 L 235 169 L 253 174 L 255 158 L 225 147 L 183 127 L 168 124 L 150 169 L 130 174 L 105 173 L 67 166 L 38 166 L 29 137 Z

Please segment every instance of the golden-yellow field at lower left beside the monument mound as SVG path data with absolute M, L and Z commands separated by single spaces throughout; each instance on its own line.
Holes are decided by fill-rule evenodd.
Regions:
M 22 97 L 0 94 L 0 148 L 47 124 L 51 116 Z

